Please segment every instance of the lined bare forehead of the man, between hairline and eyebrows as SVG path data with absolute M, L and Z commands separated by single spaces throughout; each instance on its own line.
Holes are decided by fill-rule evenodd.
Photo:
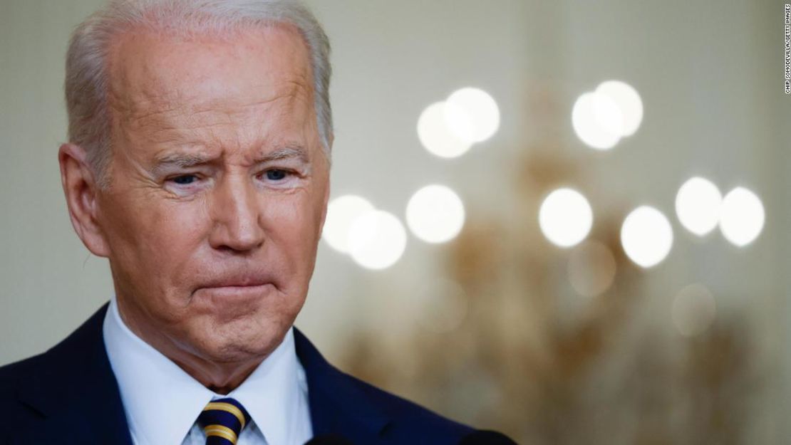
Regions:
M 236 122 L 269 107 L 312 111 L 308 61 L 289 25 L 228 36 L 127 32 L 108 56 L 109 105 L 115 123 L 129 128 L 179 126 L 174 120 L 200 126 L 202 117 L 215 124 L 218 116 Z

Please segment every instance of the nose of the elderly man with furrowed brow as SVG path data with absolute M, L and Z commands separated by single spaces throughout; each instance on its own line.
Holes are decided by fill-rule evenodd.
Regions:
M 255 186 L 243 177 L 226 176 L 213 190 L 211 247 L 219 251 L 252 251 L 264 242 L 261 202 Z

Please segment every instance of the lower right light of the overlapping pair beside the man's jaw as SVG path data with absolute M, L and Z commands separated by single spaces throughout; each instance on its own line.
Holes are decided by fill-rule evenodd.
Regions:
M 350 228 L 349 252 L 366 269 L 386 269 L 401 258 L 407 247 L 407 231 L 392 213 L 369 210 Z

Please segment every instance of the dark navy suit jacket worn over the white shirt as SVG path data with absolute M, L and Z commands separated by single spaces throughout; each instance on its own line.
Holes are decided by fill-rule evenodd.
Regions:
M 131 445 L 104 349 L 107 307 L 46 353 L 0 368 L 0 444 Z M 316 436 L 336 433 L 357 445 L 455 445 L 472 431 L 344 374 L 294 334 Z

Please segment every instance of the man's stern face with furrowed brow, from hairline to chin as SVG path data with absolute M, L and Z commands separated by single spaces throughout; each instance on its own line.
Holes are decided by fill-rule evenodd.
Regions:
M 124 321 L 158 349 L 260 357 L 305 302 L 329 191 L 308 60 L 286 26 L 112 48 L 97 219 Z

